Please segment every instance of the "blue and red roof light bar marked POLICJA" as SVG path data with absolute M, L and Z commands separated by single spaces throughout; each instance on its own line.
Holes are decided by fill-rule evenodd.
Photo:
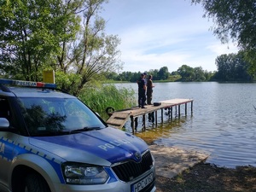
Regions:
M 56 84 L 46 84 L 35 81 L 20 81 L 13 79 L 0 79 L 0 84 L 12 84 L 17 86 L 30 86 L 30 87 L 44 87 L 44 88 L 56 88 Z

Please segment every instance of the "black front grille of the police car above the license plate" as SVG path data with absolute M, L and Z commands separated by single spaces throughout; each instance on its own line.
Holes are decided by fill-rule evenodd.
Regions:
M 132 179 L 142 175 L 144 172 L 150 170 L 153 166 L 153 159 L 148 150 L 142 156 L 142 161 L 137 163 L 135 161 L 127 161 L 123 164 L 113 166 L 113 172 L 119 177 L 121 181 L 129 182 Z

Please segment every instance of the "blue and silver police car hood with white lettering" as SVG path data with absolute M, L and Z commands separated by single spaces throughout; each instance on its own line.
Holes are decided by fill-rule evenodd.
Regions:
M 110 127 L 64 136 L 32 137 L 30 143 L 64 160 L 105 165 L 106 160 L 111 164 L 124 160 L 139 162 L 148 149 L 141 138 Z

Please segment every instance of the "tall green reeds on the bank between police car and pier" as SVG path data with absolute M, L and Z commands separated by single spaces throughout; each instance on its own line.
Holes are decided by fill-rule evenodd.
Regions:
M 87 88 L 79 95 L 79 99 L 99 113 L 102 119 L 108 119 L 108 113 L 106 113 L 106 108 L 108 107 L 120 110 L 131 108 L 137 103 L 134 90 L 117 89 L 114 84 L 103 84 L 97 88 Z

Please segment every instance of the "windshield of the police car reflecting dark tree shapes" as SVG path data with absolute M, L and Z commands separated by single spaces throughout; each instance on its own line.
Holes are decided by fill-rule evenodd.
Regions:
M 19 101 L 31 136 L 70 134 L 105 127 L 101 119 L 76 98 L 21 97 Z

